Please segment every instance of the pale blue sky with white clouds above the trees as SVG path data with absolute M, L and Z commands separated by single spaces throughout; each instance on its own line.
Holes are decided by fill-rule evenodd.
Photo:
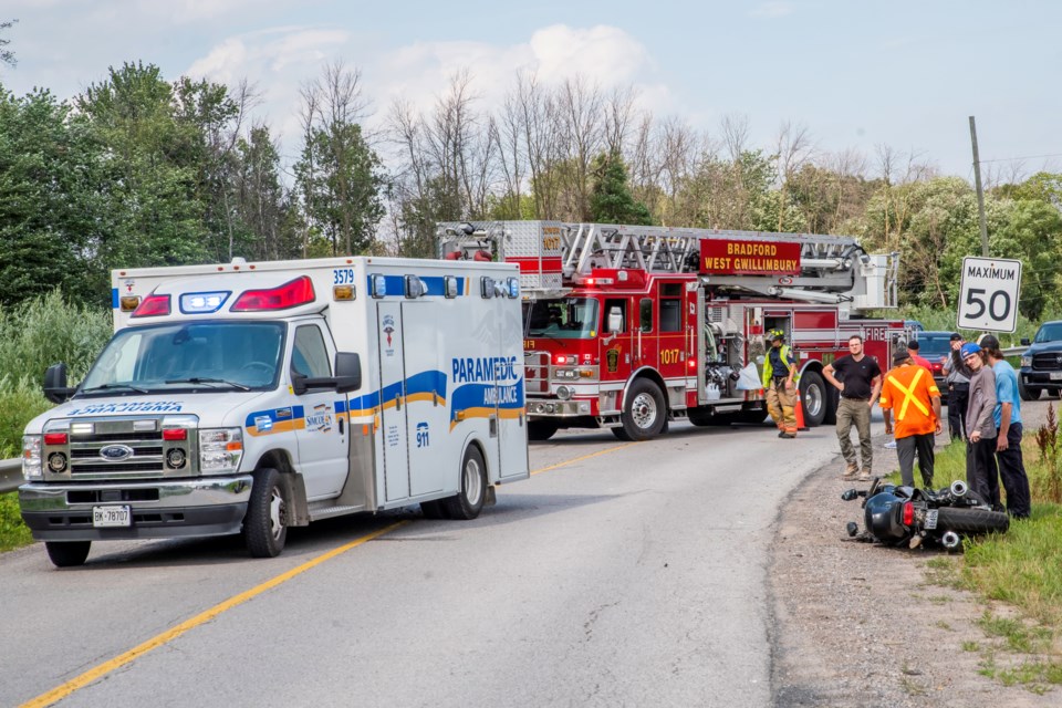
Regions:
M 254 119 L 298 149 L 301 85 L 329 62 L 361 71 L 381 123 L 396 98 L 428 108 L 467 69 L 485 111 L 518 71 L 632 85 L 638 106 L 709 135 L 748 121 L 821 153 L 881 146 L 974 179 L 1062 171 L 1062 3 L 1053 0 L 3 0 L 18 20 L 0 84 L 69 98 L 125 62 L 261 94 Z

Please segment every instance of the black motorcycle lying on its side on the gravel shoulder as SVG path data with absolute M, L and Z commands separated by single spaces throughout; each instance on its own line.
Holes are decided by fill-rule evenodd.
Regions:
M 870 489 L 848 489 L 845 501 L 863 499 L 865 530 L 850 521 L 848 535 L 857 541 L 885 545 L 906 543 L 915 549 L 931 541 L 954 551 L 962 545 L 962 537 L 1006 531 L 1010 518 L 993 511 L 991 506 L 966 482 L 956 480 L 939 490 L 918 489 L 884 483 L 875 477 Z

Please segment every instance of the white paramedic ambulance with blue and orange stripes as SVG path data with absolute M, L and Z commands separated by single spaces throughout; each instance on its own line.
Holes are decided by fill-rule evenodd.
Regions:
M 23 438 L 22 518 L 95 540 L 287 529 L 419 503 L 473 519 L 528 477 L 519 272 L 385 258 L 112 273 L 115 334 Z

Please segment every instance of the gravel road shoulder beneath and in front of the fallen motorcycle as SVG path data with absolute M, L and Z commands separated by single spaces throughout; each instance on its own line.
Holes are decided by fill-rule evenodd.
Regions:
M 1042 424 L 1048 404 L 1022 404 L 1027 436 Z M 882 464 L 897 468 L 895 452 L 884 448 L 887 439 L 874 438 L 879 469 Z M 927 562 L 947 554 L 847 538 L 845 523 L 857 521 L 862 528 L 863 510 L 857 501 L 842 501 L 841 492 L 866 485 L 842 481 L 843 470 L 839 456 L 810 475 L 778 518 L 770 569 L 774 706 L 1059 705 L 1058 688 L 1038 696 L 978 674 L 982 653 L 962 648 L 964 643 L 991 643 L 978 618 L 986 610 L 1016 615 L 1006 605 L 927 582 Z M 1000 666 L 1025 659 L 995 655 Z

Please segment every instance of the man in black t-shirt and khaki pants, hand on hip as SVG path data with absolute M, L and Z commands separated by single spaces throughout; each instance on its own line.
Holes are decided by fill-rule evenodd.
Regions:
M 823 375 L 841 392 L 837 404 L 837 439 L 841 441 L 841 455 L 847 462 L 841 479 L 860 481 L 871 479 L 874 461 L 874 447 L 871 445 L 871 409 L 882 393 L 882 369 L 877 362 L 863 354 L 863 337 L 853 334 L 848 337 L 848 355 L 842 356 L 823 369 Z M 834 376 L 840 375 L 840 379 Z M 852 425 L 860 435 L 860 464 L 852 446 Z

